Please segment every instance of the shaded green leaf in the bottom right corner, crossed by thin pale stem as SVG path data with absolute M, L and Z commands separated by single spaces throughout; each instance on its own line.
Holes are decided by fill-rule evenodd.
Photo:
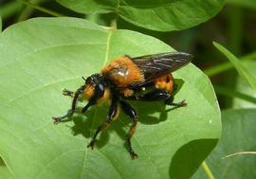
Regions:
M 255 152 L 256 109 L 228 110 L 222 113 L 223 132 L 221 139 L 207 159 L 215 178 L 255 178 L 256 157 L 251 154 L 233 155 L 235 152 Z M 207 178 L 202 169 L 193 179 Z

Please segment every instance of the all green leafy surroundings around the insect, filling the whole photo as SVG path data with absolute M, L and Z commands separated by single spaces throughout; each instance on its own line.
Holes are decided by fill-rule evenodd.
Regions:
M 254 0 L 3 1 L 1 178 L 255 178 L 255 10 Z M 213 84 L 223 125 L 214 150 L 218 103 L 209 79 L 192 64 L 174 73 L 182 84 L 175 100 L 186 98 L 187 108 L 133 103 L 141 115 L 136 161 L 123 143 L 129 119 L 122 115 L 96 150 L 85 149 L 106 106 L 52 124 L 50 117 L 70 103 L 61 96 L 64 87 L 76 89 L 82 76 L 117 56 L 173 51 L 169 45 L 193 54 L 192 63 Z M 225 157 L 237 152 L 246 153 Z

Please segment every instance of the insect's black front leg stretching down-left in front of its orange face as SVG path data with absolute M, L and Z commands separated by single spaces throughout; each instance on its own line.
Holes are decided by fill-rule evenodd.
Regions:
M 76 106 L 77 106 L 77 101 L 79 96 L 82 94 L 82 91 L 84 89 L 84 85 L 82 85 L 75 93 L 73 101 L 72 101 L 72 106 L 71 109 L 67 111 L 67 113 L 64 116 L 58 116 L 55 117 L 53 116 L 52 119 L 54 120 L 55 124 L 60 123 L 64 118 L 72 116 L 76 112 Z

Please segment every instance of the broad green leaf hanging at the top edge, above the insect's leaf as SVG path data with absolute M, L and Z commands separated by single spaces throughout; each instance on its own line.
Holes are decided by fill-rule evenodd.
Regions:
M 194 27 L 209 20 L 224 0 L 56 0 L 77 12 L 116 12 L 124 20 L 138 26 L 159 31 Z

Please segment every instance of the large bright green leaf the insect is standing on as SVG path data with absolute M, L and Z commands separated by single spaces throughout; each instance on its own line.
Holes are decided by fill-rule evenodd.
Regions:
M 129 30 L 107 31 L 76 18 L 37 18 L 0 35 L 0 154 L 17 178 L 189 178 L 210 153 L 221 131 L 220 111 L 209 79 L 194 65 L 174 73 L 184 81 L 169 111 L 162 102 L 134 102 L 139 155 L 124 144 L 130 120 L 119 119 L 99 138 L 90 136 L 106 118 L 107 106 L 53 125 L 77 89 L 108 61 L 123 54 L 173 51 L 157 39 Z M 84 105 L 84 104 L 83 104 Z M 145 172 L 147 170 L 147 172 Z

